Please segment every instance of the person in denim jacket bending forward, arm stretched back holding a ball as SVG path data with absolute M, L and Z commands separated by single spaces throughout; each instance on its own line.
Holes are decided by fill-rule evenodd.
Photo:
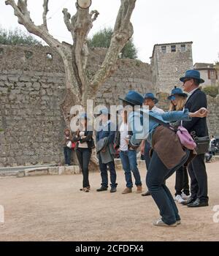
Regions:
M 168 124 L 171 121 L 190 121 L 193 117 L 203 118 L 207 116 L 207 109 L 200 108 L 195 113 L 188 112 L 188 109 L 166 113 L 155 113 L 140 107 L 138 109 L 144 98 L 137 91 L 129 91 L 122 100 L 123 107 L 129 105 L 134 109 L 128 114 L 128 125 L 133 132 L 129 145 L 133 148 L 138 147 L 141 141 L 147 138 L 153 148 L 146 183 L 161 215 L 153 225 L 176 227 L 180 224 L 180 215 L 165 181 L 185 164 L 191 151 L 182 146 L 175 132 L 159 124 L 158 121 Z

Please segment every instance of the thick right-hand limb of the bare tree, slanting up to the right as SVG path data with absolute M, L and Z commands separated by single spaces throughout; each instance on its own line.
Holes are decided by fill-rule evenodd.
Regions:
M 121 0 L 120 10 L 115 22 L 110 48 L 107 51 L 104 62 L 96 72 L 91 82 L 91 89 L 96 92 L 104 80 L 114 71 L 118 54 L 133 35 L 133 26 L 131 24 L 131 14 L 134 10 L 136 0 Z

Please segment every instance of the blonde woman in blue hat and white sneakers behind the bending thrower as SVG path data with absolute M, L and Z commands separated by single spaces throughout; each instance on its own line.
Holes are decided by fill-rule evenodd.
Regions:
M 176 86 L 172 89 L 170 96 L 167 98 L 170 100 L 169 111 L 179 111 L 183 110 L 185 102 L 188 95 L 183 93 L 180 88 Z M 171 122 L 172 127 L 177 128 L 181 125 L 181 121 Z M 176 181 L 175 181 L 175 200 L 178 203 L 184 203 L 188 200 L 190 195 L 189 185 L 188 185 L 188 172 L 185 165 L 181 166 L 176 171 Z

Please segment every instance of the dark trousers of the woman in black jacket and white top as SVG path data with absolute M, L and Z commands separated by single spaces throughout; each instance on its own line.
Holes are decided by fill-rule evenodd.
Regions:
M 82 181 L 82 186 L 83 187 L 90 187 L 89 183 L 89 162 L 91 159 L 91 149 L 89 148 L 77 148 L 76 150 L 77 154 L 77 159 L 80 164 L 81 170 L 82 170 L 82 176 L 83 176 L 83 181 Z

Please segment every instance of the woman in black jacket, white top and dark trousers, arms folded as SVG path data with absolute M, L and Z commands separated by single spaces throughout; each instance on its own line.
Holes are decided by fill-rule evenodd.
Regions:
M 88 131 L 87 122 L 88 117 L 86 113 L 80 115 L 79 118 L 80 129 L 77 130 L 76 135 L 73 138 L 76 145 L 77 159 L 82 170 L 82 189 L 81 191 L 89 192 L 91 187 L 89 183 L 89 162 L 91 159 L 92 148 L 94 148 L 93 131 Z

